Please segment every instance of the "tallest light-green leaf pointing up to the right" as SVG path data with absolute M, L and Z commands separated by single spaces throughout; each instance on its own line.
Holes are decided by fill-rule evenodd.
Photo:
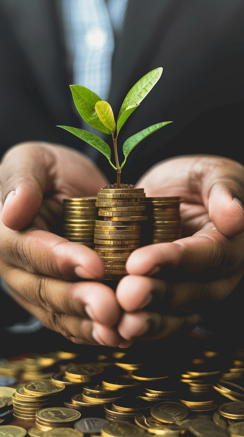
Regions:
M 122 103 L 122 107 L 120 108 L 118 123 L 119 123 L 119 118 L 125 111 L 127 111 L 130 108 L 134 108 L 135 106 L 138 106 L 141 103 L 144 97 L 146 97 L 149 91 L 151 91 L 151 89 L 154 87 L 155 83 L 157 83 L 157 81 L 159 80 L 162 71 L 163 71 L 162 67 L 149 71 L 149 73 L 143 76 L 138 82 L 136 82 L 134 87 L 132 87 L 132 89 L 129 90 L 129 93 L 125 97 L 125 100 Z

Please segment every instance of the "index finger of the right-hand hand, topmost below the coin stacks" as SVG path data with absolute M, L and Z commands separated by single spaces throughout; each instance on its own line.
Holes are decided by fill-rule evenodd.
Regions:
M 162 266 L 179 267 L 182 273 L 200 275 L 202 272 L 206 280 L 208 275 L 213 277 L 240 268 L 242 244 L 242 235 L 230 240 L 216 229 L 203 229 L 173 243 L 152 244 L 135 250 L 127 260 L 126 269 L 129 274 L 148 275 L 158 273 Z

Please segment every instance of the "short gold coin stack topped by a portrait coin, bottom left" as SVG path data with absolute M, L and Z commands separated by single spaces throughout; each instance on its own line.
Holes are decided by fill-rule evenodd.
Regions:
M 70 408 L 44 408 L 36 413 L 36 428 L 40 431 L 48 431 L 51 428 L 61 427 L 71 428 L 80 417 L 81 413 Z

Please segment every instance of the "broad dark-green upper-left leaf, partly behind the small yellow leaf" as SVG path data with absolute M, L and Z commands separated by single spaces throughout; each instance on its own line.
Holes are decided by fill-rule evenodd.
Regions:
M 102 99 L 88 88 L 82 87 L 82 85 L 70 85 L 70 87 L 75 106 L 81 117 L 88 123 L 88 125 L 98 129 L 98 131 L 104 132 L 105 134 L 111 134 L 110 130 L 99 120 L 95 111 L 95 104 L 102 101 Z

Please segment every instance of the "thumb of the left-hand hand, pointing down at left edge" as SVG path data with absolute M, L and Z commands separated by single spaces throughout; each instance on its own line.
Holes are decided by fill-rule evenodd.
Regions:
M 4 156 L 1 166 L 2 220 L 13 230 L 26 228 L 40 211 L 48 187 L 53 154 L 44 146 L 26 143 Z

